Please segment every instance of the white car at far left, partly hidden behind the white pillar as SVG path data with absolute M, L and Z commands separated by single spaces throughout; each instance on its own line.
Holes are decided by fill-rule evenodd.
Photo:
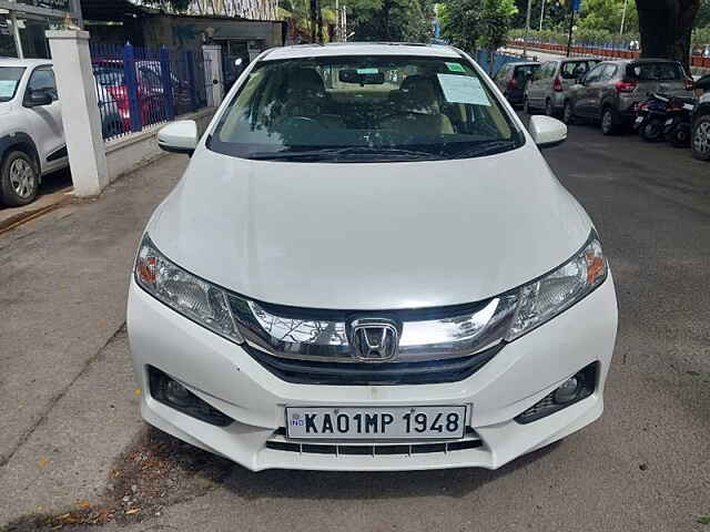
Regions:
M 97 89 L 104 133 L 120 131 L 115 101 Z M 69 164 L 52 62 L 0 59 L 0 203 L 34 200 L 42 176 Z

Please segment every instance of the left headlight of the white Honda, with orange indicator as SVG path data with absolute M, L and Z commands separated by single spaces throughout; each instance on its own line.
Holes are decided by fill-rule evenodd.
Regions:
M 135 280 L 186 318 L 229 340 L 244 341 L 224 290 L 174 265 L 155 248 L 148 235 L 135 258 Z

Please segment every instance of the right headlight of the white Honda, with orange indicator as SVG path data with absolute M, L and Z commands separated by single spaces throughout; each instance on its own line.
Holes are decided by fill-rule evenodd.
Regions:
M 571 307 L 607 278 L 607 260 L 592 231 L 584 247 L 556 270 L 523 286 L 506 340 L 514 340 Z

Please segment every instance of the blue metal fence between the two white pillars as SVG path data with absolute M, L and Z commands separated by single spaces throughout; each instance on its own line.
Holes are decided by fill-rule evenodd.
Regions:
M 91 44 L 104 139 L 212 106 L 211 64 L 202 51 Z

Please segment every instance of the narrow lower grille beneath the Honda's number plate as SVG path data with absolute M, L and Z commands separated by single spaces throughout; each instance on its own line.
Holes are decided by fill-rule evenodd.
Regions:
M 478 434 L 470 428 L 466 430 L 466 434 L 460 440 L 453 441 L 413 441 L 403 443 L 402 441 L 378 441 L 359 442 L 359 441 L 338 441 L 324 442 L 317 440 L 296 441 L 286 438 L 285 429 L 281 428 L 266 441 L 265 447 L 275 451 L 296 452 L 300 454 L 329 454 L 329 456 L 403 456 L 412 457 L 414 454 L 426 453 L 448 453 L 464 451 L 468 449 L 478 449 L 484 442 Z

